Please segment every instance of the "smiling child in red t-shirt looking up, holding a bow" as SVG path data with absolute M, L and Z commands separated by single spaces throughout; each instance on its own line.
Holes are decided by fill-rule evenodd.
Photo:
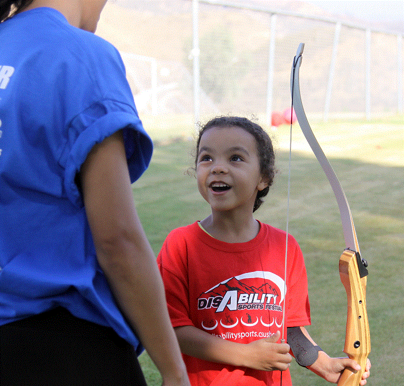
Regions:
M 330 382 L 345 367 L 359 369 L 330 358 L 302 327 L 310 306 L 300 248 L 289 235 L 285 287 L 286 233 L 253 216 L 272 185 L 274 159 L 269 136 L 245 118 L 215 118 L 199 132 L 196 178 L 212 214 L 172 231 L 158 257 L 192 386 L 279 385 L 281 371 L 282 385 L 291 385 L 290 348 Z M 278 343 L 284 310 L 288 344 Z

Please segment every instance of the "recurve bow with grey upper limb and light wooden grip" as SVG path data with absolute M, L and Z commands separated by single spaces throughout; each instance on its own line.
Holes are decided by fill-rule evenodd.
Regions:
M 313 134 L 301 102 L 299 68 L 304 46 L 303 43 L 300 43 L 293 60 L 290 78 L 292 106 L 300 129 L 305 135 L 330 182 L 341 215 L 346 249 L 339 260 L 339 274 L 346 291 L 348 303 L 344 353 L 347 354 L 350 359 L 354 359 L 359 363 L 361 371 L 352 372 L 349 369 L 345 369 L 338 381 L 338 386 L 357 386 L 362 379 L 362 374 L 365 371 L 367 358 L 370 353 L 369 323 L 366 311 L 367 262 L 361 258 L 355 226 L 345 193 Z

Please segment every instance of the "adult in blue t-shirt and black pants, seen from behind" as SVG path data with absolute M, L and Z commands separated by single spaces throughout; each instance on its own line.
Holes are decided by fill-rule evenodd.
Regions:
M 131 182 L 147 168 L 105 0 L 0 0 L 0 383 L 188 386 Z

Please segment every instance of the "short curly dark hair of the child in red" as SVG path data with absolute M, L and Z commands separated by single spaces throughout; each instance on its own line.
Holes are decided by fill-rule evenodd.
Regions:
M 257 193 L 257 198 L 254 203 L 253 212 L 256 211 L 264 202 L 261 198 L 268 194 L 269 187 L 274 181 L 275 170 L 275 152 L 272 145 L 271 138 L 266 131 L 254 122 L 243 117 L 216 117 L 210 120 L 206 125 L 202 126 L 198 133 L 196 141 L 196 157 L 195 157 L 195 170 L 197 166 L 197 155 L 199 153 L 199 143 L 202 135 L 212 127 L 215 128 L 229 128 L 239 127 L 244 129 L 247 133 L 251 134 L 257 143 L 258 156 L 260 158 L 260 172 L 268 182 L 268 186 Z

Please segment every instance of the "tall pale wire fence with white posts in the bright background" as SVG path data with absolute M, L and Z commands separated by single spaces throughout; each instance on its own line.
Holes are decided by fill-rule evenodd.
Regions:
M 122 52 L 142 120 L 162 137 L 181 136 L 215 115 L 270 124 L 272 112 L 290 108 L 301 42 L 308 116 L 403 112 L 402 32 L 313 16 L 301 2 L 116 0 L 107 3 L 97 34 Z

